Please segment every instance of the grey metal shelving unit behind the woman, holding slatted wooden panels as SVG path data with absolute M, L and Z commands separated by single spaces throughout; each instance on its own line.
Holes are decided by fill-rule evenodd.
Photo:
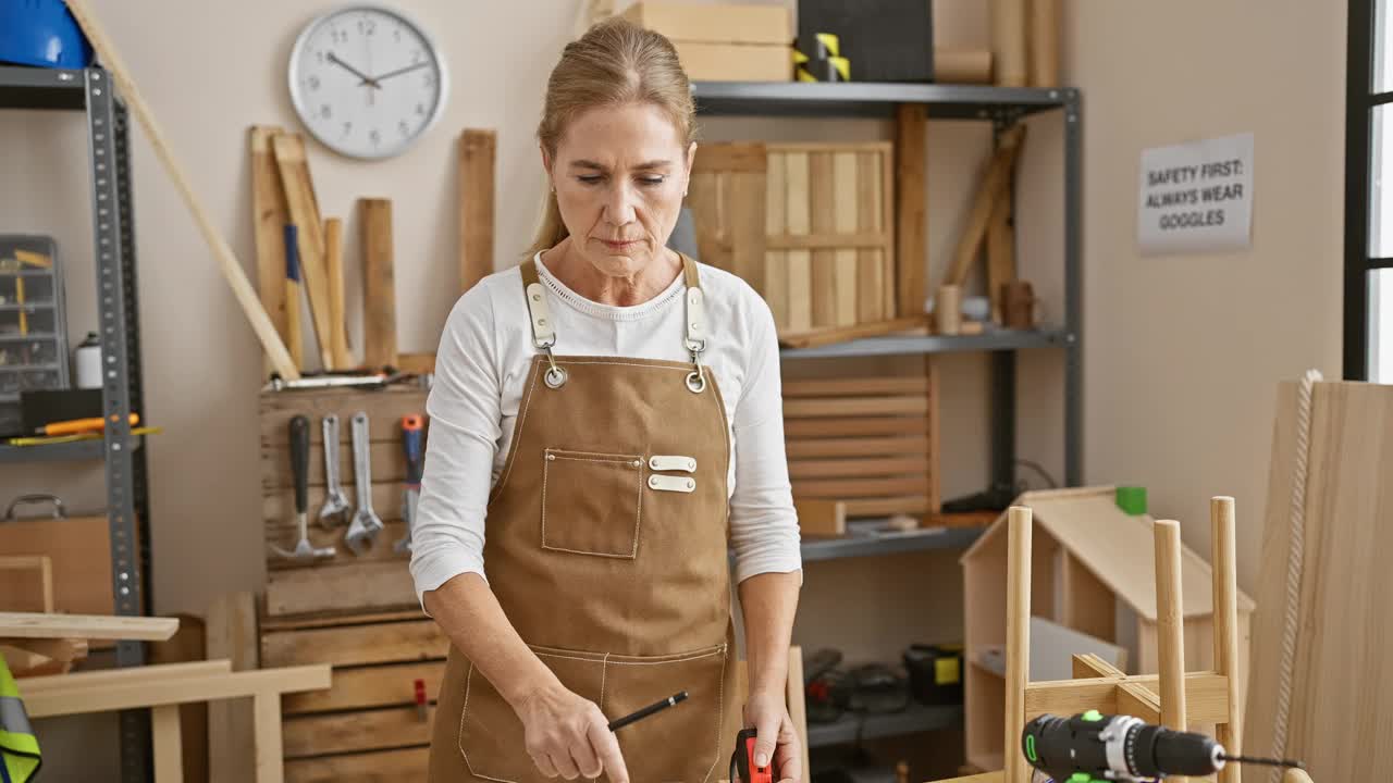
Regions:
M 775 116 L 775 117 L 894 117 L 900 104 L 924 104 L 929 118 L 989 121 L 999 134 L 1022 117 L 1041 111 L 1063 114 L 1064 177 L 1064 323 L 1056 329 L 1034 332 L 995 330 L 978 336 L 887 336 L 869 337 L 816 348 L 780 351 L 787 359 L 848 358 L 872 355 L 917 355 L 954 351 L 992 354 L 992 485 L 993 489 L 1015 485 L 1015 364 L 1027 350 L 1057 350 L 1064 361 L 1064 481 L 1078 485 L 1082 479 L 1082 116 L 1077 89 L 1018 89 L 974 85 L 918 84 L 801 84 L 801 82 L 695 82 L 692 95 L 696 110 L 705 114 Z M 802 545 L 804 560 L 864 557 L 929 549 L 961 549 L 981 535 L 981 529 L 947 528 L 908 532 L 859 532 L 848 524 L 848 535 L 839 539 L 814 539 Z M 866 527 L 876 527 L 873 521 Z M 954 729 L 963 726 L 963 708 L 931 708 L 914 704 L 893 715 L 848 715 L 836 723 L 809 724 L 812 747 L 854 743 L 861 738 L 889 737 Z

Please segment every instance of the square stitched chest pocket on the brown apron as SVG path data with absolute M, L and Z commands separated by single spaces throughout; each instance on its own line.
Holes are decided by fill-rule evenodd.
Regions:
M 642 518 L 642 456 L 546 450 L 542 549 L 632 560 Z

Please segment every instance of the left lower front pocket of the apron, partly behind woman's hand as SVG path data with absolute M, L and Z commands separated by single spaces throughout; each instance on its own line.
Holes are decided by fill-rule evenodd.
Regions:
M 567 690 L 600 704 L 605 688 L 605 655 L 532 646 Z M 460 716 L 460 752 L 469 773 L 504 783 L 545 780 L 527 755 L 522 720 L 474 665 L 464 680 L 464 712 Z M 635 779 L 637 780 L 637 779 Z

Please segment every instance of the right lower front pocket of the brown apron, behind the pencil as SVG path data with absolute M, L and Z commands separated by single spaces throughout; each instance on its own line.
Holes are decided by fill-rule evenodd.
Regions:
M 737 698 L 724 687 L 726 651 L 722 644 L 677 655 L 605 659 L 600 711 L 610 720 L 687 691 L 685 701 L 614 733 L 630 780 L 703 783 L 724 777 L 720 757 L 729 763 L 737 730 L 722 724 L 727 701 Z

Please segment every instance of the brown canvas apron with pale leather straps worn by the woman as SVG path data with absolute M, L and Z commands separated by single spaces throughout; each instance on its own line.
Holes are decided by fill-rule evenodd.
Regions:
M 688 692 L 616 731 L 634 783 L 724 777 L 742 702 L 727 566 L 729 429 L 701 364 L 696 266 L 683 256 L 683 269 L 691 364 L 553 357 L 547 294 L 534 262 L 522 265 L 539 352 L 489 499 L 483 549 L 513 627 L 607 719 Z M 517 713 L 451 645 L 430 780 L 479 779 L 546 780 Z

